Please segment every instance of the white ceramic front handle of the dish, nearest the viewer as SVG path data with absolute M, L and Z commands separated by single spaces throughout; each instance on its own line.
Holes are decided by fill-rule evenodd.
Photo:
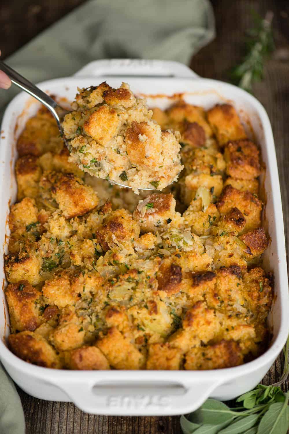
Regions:
M 173 374 L 172 374 L 173 376 Z M 185 414 L 199 408 L 219 382 L 199 381 L 190 386 L 179 382 L 101 381 L 85 385 L 79 381 L 58 387 L 77 407 L 92 414 L 157 416 Z

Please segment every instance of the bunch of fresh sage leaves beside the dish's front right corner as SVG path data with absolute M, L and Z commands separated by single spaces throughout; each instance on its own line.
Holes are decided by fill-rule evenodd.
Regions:
M 289 372 L 289 337 L 283 349 L 285 363 L 280 381 L 271 385 L 257 385 L 235 400 L 234 407 L 207 399 L 202 407 L 181 416 L 184 434 L 287 434 L 289 428 L 289 391 L 282 384 Z

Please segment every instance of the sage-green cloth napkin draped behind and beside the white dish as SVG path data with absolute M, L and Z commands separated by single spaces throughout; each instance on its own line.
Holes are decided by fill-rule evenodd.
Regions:
M 32 82 L 71 76 L 95 59 L 167 59 L 188 63 L 215 37 L 208 0 L 91 0 L 5 60 Z M 0 90 L 0 110 L 18 92 Z M 0 365 L 0 434 L 23 434 L 13 382 Z

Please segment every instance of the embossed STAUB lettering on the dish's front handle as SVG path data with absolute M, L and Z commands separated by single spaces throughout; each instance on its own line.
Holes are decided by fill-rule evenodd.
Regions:
M 170 407 L 172 404 L 172 397 L 170 396 L 108 396 L 106 398 L 108 407 L 126 407 L 126 408 L 147 408 L 150 406 Z

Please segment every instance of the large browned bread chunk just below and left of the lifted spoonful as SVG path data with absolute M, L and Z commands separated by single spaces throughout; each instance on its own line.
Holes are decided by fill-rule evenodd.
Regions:
M 51 194 L 67 219 L 86 214 L 98 204 L 93 188 L 83 184 L 72 173 L 46 173 L 40 180 L 40 187 L 43 189 L 42 194 Z

